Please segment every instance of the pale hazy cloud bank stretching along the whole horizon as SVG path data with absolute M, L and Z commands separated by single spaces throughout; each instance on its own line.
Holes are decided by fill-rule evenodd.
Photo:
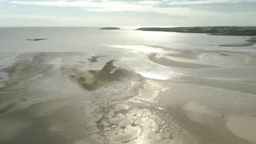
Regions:
M 0 14 L 0 27 L 30 26 L 245 26 L 255 25 L 256 13 L 199 15 L 186 19 L 135 19 L 132 17 L 68 17 Z

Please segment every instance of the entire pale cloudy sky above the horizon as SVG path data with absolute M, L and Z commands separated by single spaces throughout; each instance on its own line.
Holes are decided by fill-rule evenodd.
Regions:
M 256 26 L 256 0 L 0 0 L 0 27 Z

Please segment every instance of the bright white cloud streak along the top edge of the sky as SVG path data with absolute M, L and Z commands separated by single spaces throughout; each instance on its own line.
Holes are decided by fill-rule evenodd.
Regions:
M 158 4 L 165 3 L 171 5 L 199 5 L 209 3 L 242 3 L 256 2 L 256 0 L 202 0 L 202 1 L 138 1 L 138 2 L 123 2 L 123 1 L 11 1 L 10 4 L 26 4 L 26 5 L 43 5 L 49 7 L 76 7 L 84 8 L 94 12 L 121 12 L 121 11 L 136 11 L 136 12 L 154 12 L 160 14 L 176 15 L 176 16 L 198 16 L 198 15 L 214 15 L 220 14 L 210 10 L 200 10 L 193 7 L 157 7 Z

